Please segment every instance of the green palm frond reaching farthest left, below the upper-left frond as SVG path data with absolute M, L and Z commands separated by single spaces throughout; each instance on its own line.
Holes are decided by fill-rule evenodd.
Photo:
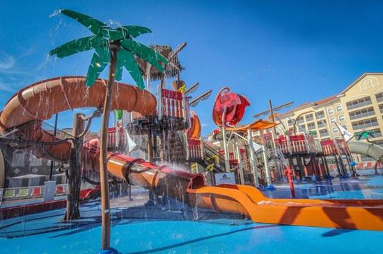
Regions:
M 56 54 L 58 58 L 64 58 L 65 56 L 70 56 L 82 51 L 96 49 L 100 46 L 108 46 L 108 40 L 97 35 L 92 35 L 62 44 L 56 49 L 49 51 L 49 56 Z

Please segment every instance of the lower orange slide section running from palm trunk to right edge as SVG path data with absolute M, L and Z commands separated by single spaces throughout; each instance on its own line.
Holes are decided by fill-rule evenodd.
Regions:
M 97 158 L 97 149 L 88 148 Z M 94 167 L 88 167 L 88 170 Z M 320 200 L 267 198 L 247 185 L 205 186 L 201 174 L 159 167 L 141 159 L 109 154 L 112 175 L 170 196 L 192 207 L 233 212 L 253 222 L 296 226 L 383 230 L 383 200 Z

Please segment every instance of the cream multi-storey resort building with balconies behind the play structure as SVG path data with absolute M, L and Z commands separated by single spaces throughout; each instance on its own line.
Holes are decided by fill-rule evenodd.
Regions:
M 278 115 L 283 130 L 311 133 L 327 140 L 340 137 L 336 123 L 357 134 L 368 131 L 368 141 L 383 145 L 383 73 L 365 73 L 339 94 L 302 105 Z M 361 140 L 366 137 L 361 137 Z M 357 162 L 372 160 L 366 155 L 353 155 Z

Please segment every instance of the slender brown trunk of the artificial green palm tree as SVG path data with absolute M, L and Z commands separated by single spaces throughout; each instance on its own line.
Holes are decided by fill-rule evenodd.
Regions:
M 118 44 L 109 45 L 111 62 L 109 66 L 109 78 L 105 91 L 104 111 L 102 113 L 101 140 L 100 140 L 100 185 L 101 185 L 101 227 L 102 227 L 102 250 L 110 248 L 111 214 L 109 202 L 109 185 L 107 171 L 107 143 L 109 115 L 111 112 L 111 99 L 114 90 L 114 74 L 116 70 Z

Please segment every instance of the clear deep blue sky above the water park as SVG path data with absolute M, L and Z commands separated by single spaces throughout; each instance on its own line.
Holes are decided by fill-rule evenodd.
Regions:
M 143 44 L 175 48 L 187 42 L 180 53 L 186 68 L 181 79 L 187 85 L 199 81 L 194 96 L 212 89 L 210 99 L 193 108 L 203 135 L 216 128 L 212 106 L 221 87 L 247 96 L 246 124 L 267 110 L 269 99 L 273 105 L 294 101 L 296 106 L 337 94 L 365 72 L 383 71 L 381 1 L 1 0 L 0 109 L 36 81 L 86 75 L 91 51 L 47 56 L 56 46 L 91 35 L 74 20 L 53 15 L 63 8 L 111 26 L 147 26 L 153 33 L 136 38 Z M 133 83 L 127 72 L 122 81 Z M 58 126 L 72 126 L 72 112 L 61 113 Z M 97 119 L 92 130 L 99 129 Z

